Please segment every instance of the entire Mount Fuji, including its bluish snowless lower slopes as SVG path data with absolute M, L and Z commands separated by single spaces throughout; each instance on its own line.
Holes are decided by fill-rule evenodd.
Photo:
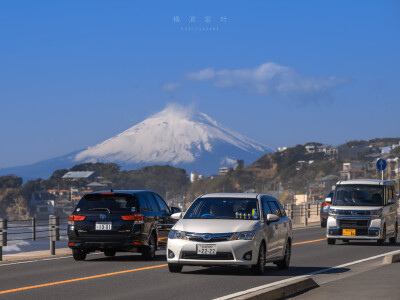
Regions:
M 60 168 L 83 162 L 114 162 L 123 169 L 172 165 L 204 175 L 232 166 L 236 159 L 251 163 L 273 148 L 249 139 L 204 113 L 178 105 L 163 111 L 95 146 L 29 166 L 0 170 L 25 178 L 49 177 Z

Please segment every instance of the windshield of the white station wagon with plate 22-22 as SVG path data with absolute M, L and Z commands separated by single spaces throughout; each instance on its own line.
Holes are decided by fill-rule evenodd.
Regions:
M 188 209 L 184 219 L 258 220 L 257 199 L 199 198 Z

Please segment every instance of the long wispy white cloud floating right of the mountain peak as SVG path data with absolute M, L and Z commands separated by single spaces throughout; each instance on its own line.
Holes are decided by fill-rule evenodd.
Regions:
M 305 77 L 289 67 L 273 62 L 254 69 L 207 68 L 189 73 L 187 78 L 192 81 L 210 81 L 219 88 L 236 88 L 252 94 L 301 97 L 319 97 L 346 82 L 334 76 L 324 79 Z

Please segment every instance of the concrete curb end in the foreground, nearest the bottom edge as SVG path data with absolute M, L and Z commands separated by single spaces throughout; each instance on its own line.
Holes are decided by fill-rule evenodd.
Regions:
M 319 285 L 311 278 L 301 278 L 289 284 L 282 283 L 272 287 L 268 287 L 259 291 L 251 292 L 246 295 L 234 297 L 234 300 L 275 300 L 284 299 L 295 294 L 308 291 L 319 287 Z

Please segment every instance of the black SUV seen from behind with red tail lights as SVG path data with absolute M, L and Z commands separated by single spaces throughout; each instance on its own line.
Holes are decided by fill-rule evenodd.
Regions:
M 168 231 L 176 220 L 164 200 L 151 191 L 100 191 L 86 194 L 68 218 L 68 246 L 75 260 L 102 251 L 139 252 L 146 260 L 167 243 Z

